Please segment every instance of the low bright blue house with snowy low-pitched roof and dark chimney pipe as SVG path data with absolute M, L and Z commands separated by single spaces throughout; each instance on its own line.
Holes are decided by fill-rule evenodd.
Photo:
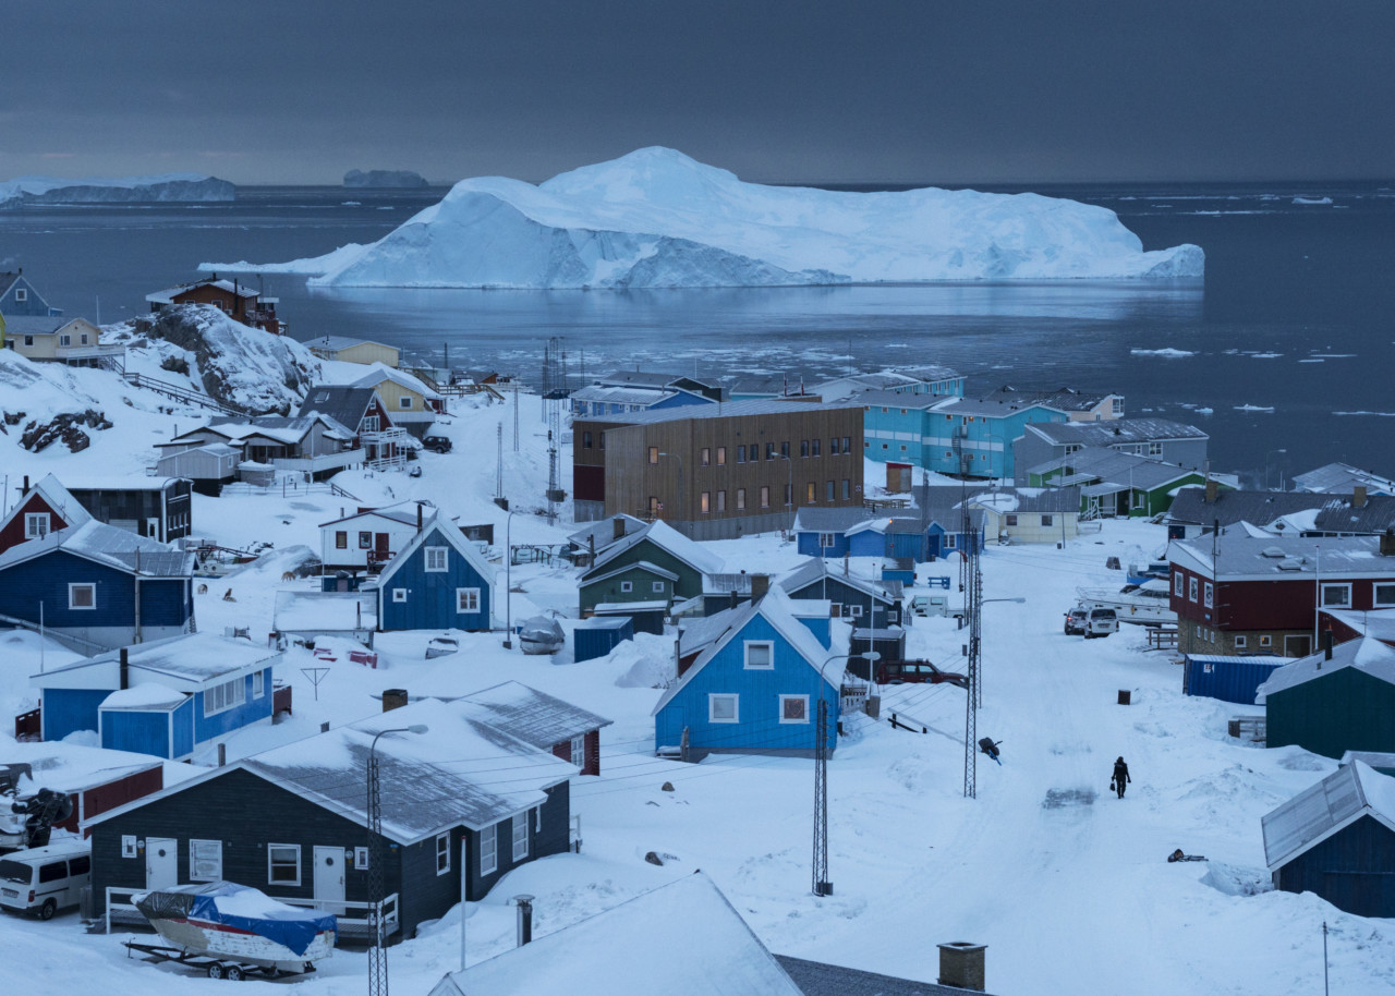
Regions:
M 36 674 L 46 741 L 95 731 L 103 748 L 169 760 L 272 718 L 275 650 L 211 633 L 121 647 Z

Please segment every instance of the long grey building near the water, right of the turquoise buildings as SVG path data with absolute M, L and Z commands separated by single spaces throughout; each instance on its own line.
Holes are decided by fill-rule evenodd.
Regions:
M 1106 421 L 1030 423 L 1013 441 L 1014 483 L 1025 485 L 1028 470 L 1048 460 L 1101 446 L 1151 456 L 1162 463 L 1197 470 L 1205 467 L 1211 437 L 1196 425 L 1170 418 L 1112 418 Z

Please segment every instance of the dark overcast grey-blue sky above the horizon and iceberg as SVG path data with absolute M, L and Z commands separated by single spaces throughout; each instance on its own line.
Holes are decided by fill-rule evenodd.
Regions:
M 6 0 L 0 179 L 1395 176 L 1395 3 Z

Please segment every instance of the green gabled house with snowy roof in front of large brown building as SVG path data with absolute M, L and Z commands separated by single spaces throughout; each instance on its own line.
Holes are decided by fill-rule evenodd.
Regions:
M 596 555 L 582 573 L 582 615 L 596 605 L 675 601 L 702 596 L 703 576 L 723 561 L 663 522 L 651 522 Z

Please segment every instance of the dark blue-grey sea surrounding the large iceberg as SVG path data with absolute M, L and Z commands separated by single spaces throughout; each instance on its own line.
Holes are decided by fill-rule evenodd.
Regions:
M 1395 183 L 1032 190 L 1110 208 L 1145 248 L 1201 246 L 1205 286 L 311 292 L 268 276 L 264 287 L 297 339 L 379 339 L 437 364 L 449 347 L 452 365 L 527 379 L 550 336 L 564 338 L 578 381 L 614 365 L 812 381 L 944 363 L 971 395 L 1122 392 L 1129 414 L 1208 431 L 1212 466 L 1251 480 L 1276 485 L 1329 460 L 1395 477 Z M 444 193 L 243 187 L 232 204 L 0 212 L 0 269 L 22 266 L 52 305 L 110 324 L 195 279 L 202 261 L 372 241 Z

